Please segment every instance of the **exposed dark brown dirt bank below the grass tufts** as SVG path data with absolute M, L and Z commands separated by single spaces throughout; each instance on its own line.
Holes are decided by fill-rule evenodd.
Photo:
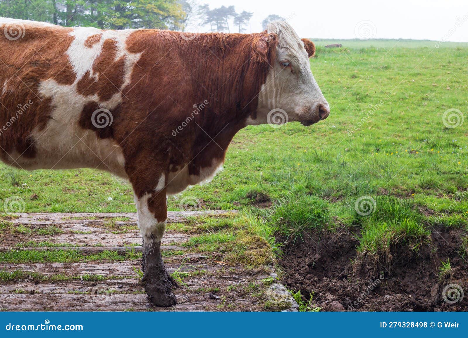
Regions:
M 461 230 L 434 230 L 431 244 L 418 254 L 396 248 L 392 262 L 369 276 L 372 269 L 353 263 L 358 241 L 348 229 L 306 234 L 285 243 L 283 283 L 300 290 L 304 300 L 313 293 L 313 302 L 326 311 L 468 311 L 468 269 L 457 252 L 462 235 Z M 440 262 L 447 259 L 452 271 L 440 277 Z M 443 298 L 448 286 L 446 300 L 456 299 L 457 290 L 450 284 L 464 291 L 458 302 Z

